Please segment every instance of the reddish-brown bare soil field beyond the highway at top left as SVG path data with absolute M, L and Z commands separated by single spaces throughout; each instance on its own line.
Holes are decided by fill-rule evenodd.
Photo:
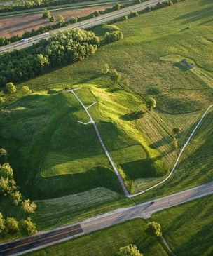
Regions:
M 57 15 L 62 15 L 64 21 L 69 20 L 71 17 L 83 17 L 94 11 L 102 11 L 105 8 L 111 6 L 95 6 L 90 8 L 72 9 L 72 10 L 61 10 L 61 11 L 50 11 L 51 15 L 57 18 Z M 32 29 L 39 29 L 41 26 L 48 26 L 53 24 L 48 19 L 43 19 L 42 13 L 14 16 L 10 18 L 0 19 L 0 37 L 9 38 L 11 36 L 21 36 L 25 31 L 30 31 Z

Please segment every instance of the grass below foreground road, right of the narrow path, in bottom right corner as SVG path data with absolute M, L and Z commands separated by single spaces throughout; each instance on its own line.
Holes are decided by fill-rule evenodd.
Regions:
M 151 216 L 175 255 L 212 255 L 212 199 L 206 196 Z

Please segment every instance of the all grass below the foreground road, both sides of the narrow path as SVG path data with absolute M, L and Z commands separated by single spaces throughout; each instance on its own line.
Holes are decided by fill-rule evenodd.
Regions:
M 161 225 L 163 237 L 177 256 L 212 255 L 213 196 L 200 198 L 182 206 L 154 213 L 154 220 Z M 146 256 L 170 255 L 156 238 L 146 238 L 146 221 L 132 220 L 102 231 L 32 252 L 30 255 L 109 255 L 121 246 L 133 243 Z M 28 254 L 29 255 L 29 254 Z

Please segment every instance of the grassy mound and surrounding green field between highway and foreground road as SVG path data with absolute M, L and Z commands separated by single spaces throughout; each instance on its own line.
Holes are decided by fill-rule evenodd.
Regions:
M 62 90 L 81 88 L 78 96 L 85 105 L 97 100 L 90 114 L 130 193 L 156 184 L 166 175 L 158 175 L 157 170 L 172 169 L 181 147 L 212 104 L 213 22 L 207 12 L 212 6 L 208 0 L 195 0 L 193 5 L 186 0 L 118 22 L 124 36 L 121 41 L 102 44 L 86 60 L 17 85 L 18 90 L 29 86 L 32 95 L 1 93 L 7 101 L 0 112 L 0 144 L 9 152 L 22 194 L 38 205 L 32 220 L 40 230 L 131 204 L 123 198 L 92 124 L 78 123 L 87 122 L 88 116 L 76 98 Z M 103 36 L 106 27 L 96 27 L 94 32 Z M 182 58 L 193 62 L 195 69 L 183 65 Z M 105 63 L 121 73 L 119 84 L 103 74 Z M 146 111 L 148 97 L 157 102 L 152 111 Z M 135 118 L 135 112 L 142 116 Z M 211 125 L 212 110 L 188 144 L 172 179 L 134 198 L 137 203 L 212 180 Z M 172 149 L 174 127 L 181 127 L 175 136 L 177 149 Z M 76 206 L 70 215 L 64 196 L 77 194 L 83 200 L 89 191 L 92 200 L 82 201 L 81 208 Z M 3 212 L 7 206 L 3 203 Z M 51 221 L 49 209 L 52 216 L 61 210 L 62 221 L 58 215 Z M 74 210 L 71 205 L 67 209 Z

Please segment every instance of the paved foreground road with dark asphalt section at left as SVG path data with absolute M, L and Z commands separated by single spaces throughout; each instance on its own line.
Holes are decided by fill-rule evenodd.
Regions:
M 148 201 L 137 206 L 120 208 L 109 213 L 84 220 L 78 224 L 43 232 L 36 236 L 13 241 L 11 243 L 4 243 L 0 245 L 0 255 L 21 255 L 25 252 L 38 250 L 39 248 L 50 246 L 54 243 L 60 243 L 61 241 L 69 240 L 76 236 L 81 236 L 83 234 L 90 233 L 91 231 L 103 229 L 126 220 L 132 220 L 137 217 L 148 218 L 152 213 L 156 213 L 159 210 L 177 206 L 195 198 L 207 196 L 208 194 L 213 194 L 213 182 L 209 182 L 193 189 L 181 191 L 170 196 L 158 198 L 154 200 L 153 204 Z

